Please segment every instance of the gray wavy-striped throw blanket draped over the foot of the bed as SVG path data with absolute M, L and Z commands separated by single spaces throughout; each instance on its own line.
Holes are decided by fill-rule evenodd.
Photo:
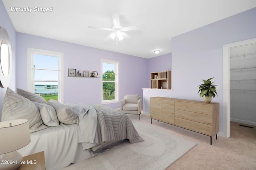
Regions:
M 144 141 L 130 118 L 116 109 L 102 105 L 67 104 L 78 115 L 78 143 L 93 151 L 117 141 Z

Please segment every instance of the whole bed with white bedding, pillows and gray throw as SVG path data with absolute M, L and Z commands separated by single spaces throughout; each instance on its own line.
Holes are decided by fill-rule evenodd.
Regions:
M 31 142 L 22 156 L 44 151 L 46 170 L 59 170 L 123 141 L 144 141 L 127 115 L 102 105 L 46 102 L 28 91 L 10 88 L 4 98 L 2 121 L 28 119 Z M 85 167 L 86 168 L 86 167 Z

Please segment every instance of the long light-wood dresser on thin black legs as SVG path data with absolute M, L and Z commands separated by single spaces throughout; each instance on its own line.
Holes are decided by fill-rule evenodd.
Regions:
M 176 98 L 150 98 L 150 118 L 212 137 L 219 132 L 220 104 Z

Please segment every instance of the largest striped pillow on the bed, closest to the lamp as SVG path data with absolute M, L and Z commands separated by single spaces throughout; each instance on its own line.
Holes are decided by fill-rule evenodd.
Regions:
M 2 121 L 13 119 L 28 119 L 30 133 L 47 128 L 36 105 L 7 88 L 2 109 Z

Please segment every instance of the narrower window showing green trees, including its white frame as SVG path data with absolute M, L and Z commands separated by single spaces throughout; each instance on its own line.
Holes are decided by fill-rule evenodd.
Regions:
M 119 62 L 101 60 L 101 104 L 119 102 Z

